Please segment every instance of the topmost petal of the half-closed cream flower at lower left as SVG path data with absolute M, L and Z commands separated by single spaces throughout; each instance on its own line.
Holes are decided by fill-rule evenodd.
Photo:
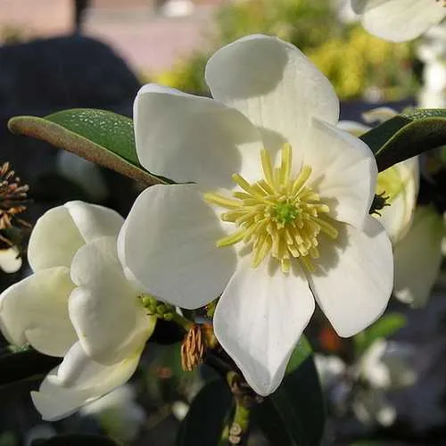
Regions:
M 67 202 L 46 211 L 29 237 L 28 260 L 34 271 L 70 267 L 80 246 L 102 235 L 118 235 L 124 219 L 111 209 Z

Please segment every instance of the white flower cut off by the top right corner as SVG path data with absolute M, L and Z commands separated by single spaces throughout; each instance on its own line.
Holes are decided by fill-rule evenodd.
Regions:
M 444 0 L 351 0 L 371 34 L 404 42 L 423 34 L 446 16 Z

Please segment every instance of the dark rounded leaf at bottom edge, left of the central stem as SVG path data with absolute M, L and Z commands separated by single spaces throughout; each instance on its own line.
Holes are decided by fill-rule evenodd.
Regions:
M 225 418 L 232 406 L 232 395 L 220 379 L 206 384 L 192 401 L 180 425 L 177 446 L 216 446 Z

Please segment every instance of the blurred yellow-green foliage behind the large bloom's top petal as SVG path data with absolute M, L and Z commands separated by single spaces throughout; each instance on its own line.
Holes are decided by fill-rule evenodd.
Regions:
M 154 81 L 182 91 L 207 94 L 204 67 L 214 49 L 248 34 L 268 34 L 293 43 L 326 74 L 341 99 L 368 91 L 395 100 L 414 93 L 413 45 L 392 44 L 370 36 L 359 25 L 334 20 L 332 2 L 321 0 L 245 0 L 218 12 L 216 37 L 209 50 L 178 62 Z

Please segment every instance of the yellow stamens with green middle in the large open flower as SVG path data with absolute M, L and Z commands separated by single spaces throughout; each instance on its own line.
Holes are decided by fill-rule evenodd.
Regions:
M 325 233 L 335 239 L 338 231 L 327 213 L 326 203 L 308 184 L 311 168 L 304 165 L 296 177 L 292 176 L 292 149 L 285 145 L 281 163 L 273 168 L 267 150 L 260 152 L 263 178 L 250 184 L 238 174 L 232 176 L 242 191 L 232 197 L 204 194 L 206 202 L 227 209 L 223 221 L 235 224 L 235 232 L 217 241 L 217 246 L 244 242 L 251 247 L 252 267 L 257 267 L 268 256 L 276 259 L 284 273 L 292 260 L 298 260 L 310 271 L 312 260 L 318 259 L 318 235 Z

